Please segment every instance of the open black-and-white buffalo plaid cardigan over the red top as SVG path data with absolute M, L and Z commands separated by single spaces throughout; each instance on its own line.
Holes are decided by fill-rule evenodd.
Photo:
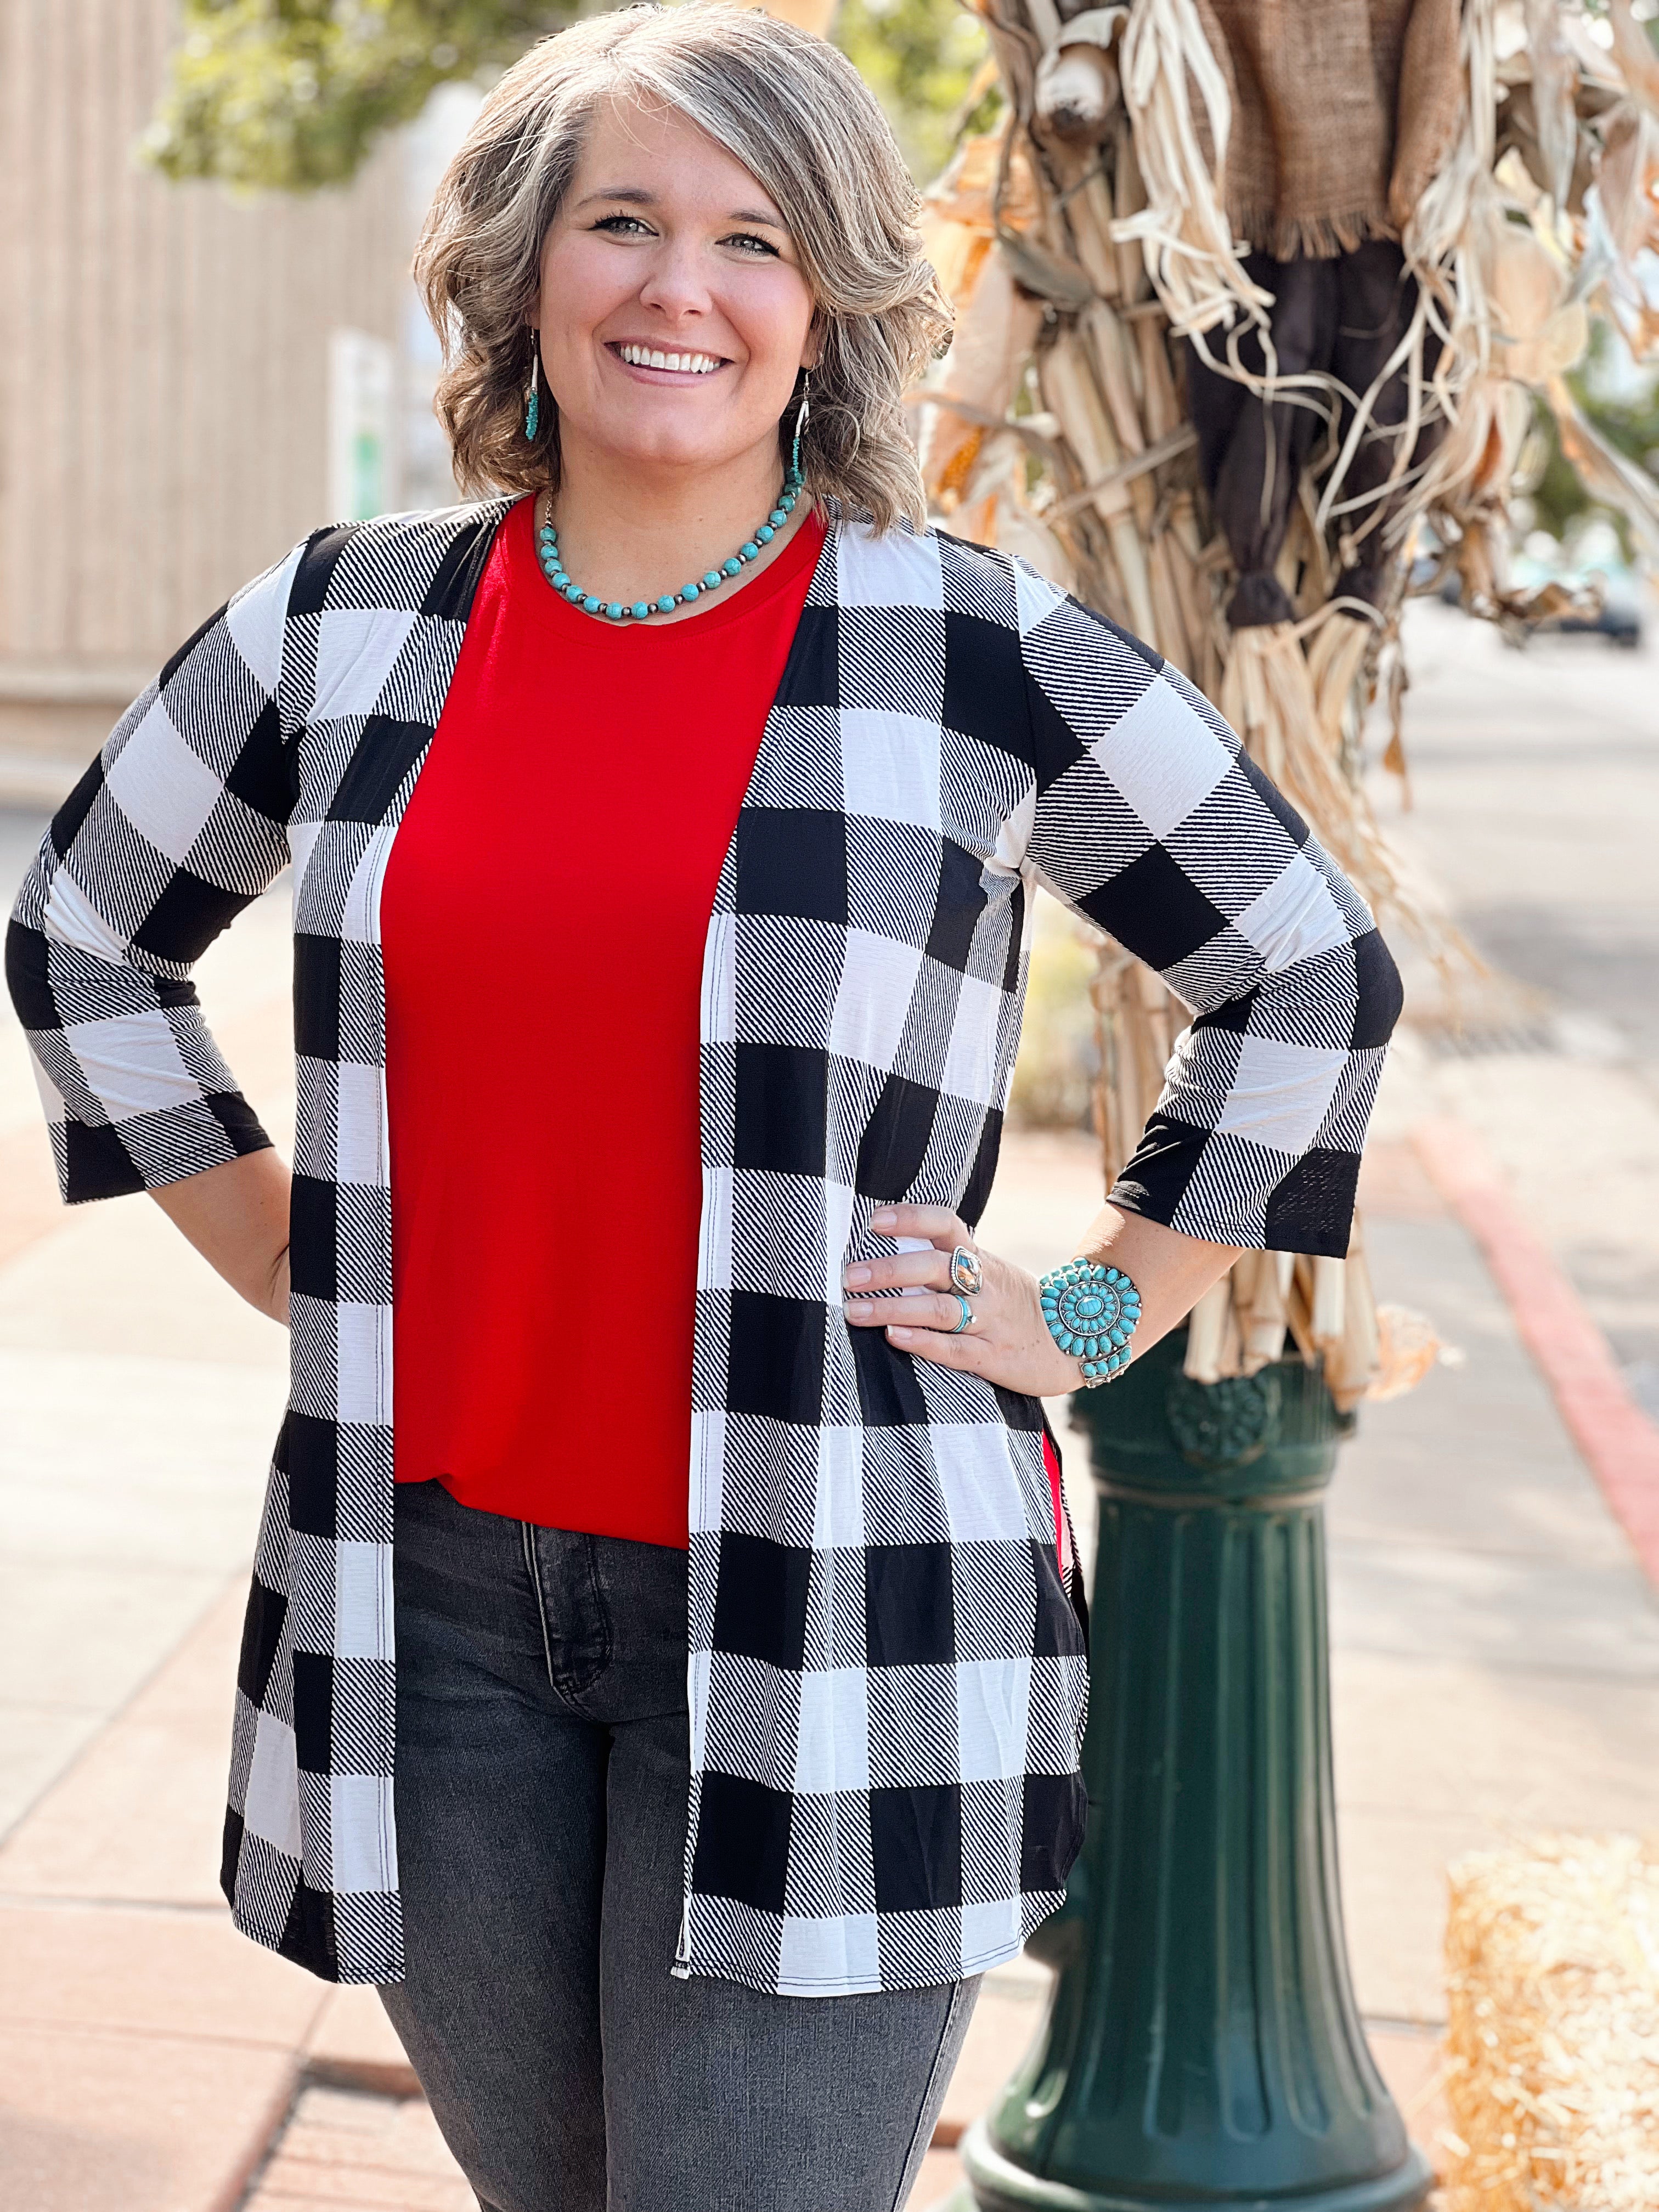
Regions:
M 380 883 L 504 511 L 330 529 L 239 593 L 64 803 L 9 936 L 66 1199 L 168 1183 L 268 1141 L 188 978 L 292 860 L 292 1396 L 223 1878 L 345 1982 L 403 1971 Z M 626 781 L 577 827 L 626 898 Z M 1360 900 L 1157 655 L 1015 560 L 834 515 L 703 958 L 681 1975 L 978 1973 L 1079 1845 L 1040 1407 L 841 1318 L 880 1203 L 984 1206 L 1033 883 L 1199 1009 L 1117 1201 L 1340 1254 L 1398 1009 Z M 511 1084 L 513 1040 L 471 1042 Z

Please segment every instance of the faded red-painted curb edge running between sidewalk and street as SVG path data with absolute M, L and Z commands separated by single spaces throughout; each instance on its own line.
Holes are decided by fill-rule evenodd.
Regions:
M 1573 1442 L 1659 1588 L 1659 1427 L 1632 1398 L 1606 1336 L 1528 1228 L 1478 1130 L 1436 1117 L 1411 1130 L 1411 1144 L 1480 1245 Z

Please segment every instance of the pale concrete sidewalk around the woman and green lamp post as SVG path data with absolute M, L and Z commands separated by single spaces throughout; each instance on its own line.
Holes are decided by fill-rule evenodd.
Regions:
M 13 847 L 29 834 L 13 823 Z M 201 973 L 274 1130 L 283 922 L 279 894 Z M 1535 1827 L 1659 1827 L 1659 1610 L 1411 1150 L 1440 1075 L 1407 1040 L 1365 1203 L 1380 1296 L 1429 1312 L 1464 1365 L 1365 1411 L 1329 1509 L 1354 1973 L 1429 2141 L 1447 1858 Z M 1097 1192 L 1086 1139 L 1013 1139 L 984 1239 L 1048 1265 Z M 217 1891 L 283 1349 L 157 1208 L 58 1210 L 0 1024 L 0 2203 L 20 2212 L 469 2203 L 425 2108 L 387 2095 L 411 2084 L 372 1993 L 246 1944 Z M 1071 1484 L 1084 1517 L 1079 1449 Z M 1042 1991 L 1024 1964 L 993 1980 L 916 2208 L 951 2185 L 949 2143 Z

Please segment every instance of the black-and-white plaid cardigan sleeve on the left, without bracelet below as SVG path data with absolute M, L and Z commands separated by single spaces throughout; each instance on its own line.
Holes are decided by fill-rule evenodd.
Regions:
M 206 622 L 126 710 L 18 894 L 7 984 L 69 1203 L 270 1144 L 190 969 L 288 863 L 276 688 L 296 560 Z

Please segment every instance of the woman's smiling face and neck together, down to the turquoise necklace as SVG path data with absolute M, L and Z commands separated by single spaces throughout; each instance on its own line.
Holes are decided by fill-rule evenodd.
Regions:
M 613 619 L 684 619 L 728 562 L 765 568 L 792 533 L 799 471 L 774 507 L 779 422 L 792 400 L 810 422 L 823 330 L 801 248 L 757 197 L 677 108 L 613 95 L 549 223 L 531 376 L 553 394 L 557 487 L 540 520 L 557 504 L 560 588 Z

